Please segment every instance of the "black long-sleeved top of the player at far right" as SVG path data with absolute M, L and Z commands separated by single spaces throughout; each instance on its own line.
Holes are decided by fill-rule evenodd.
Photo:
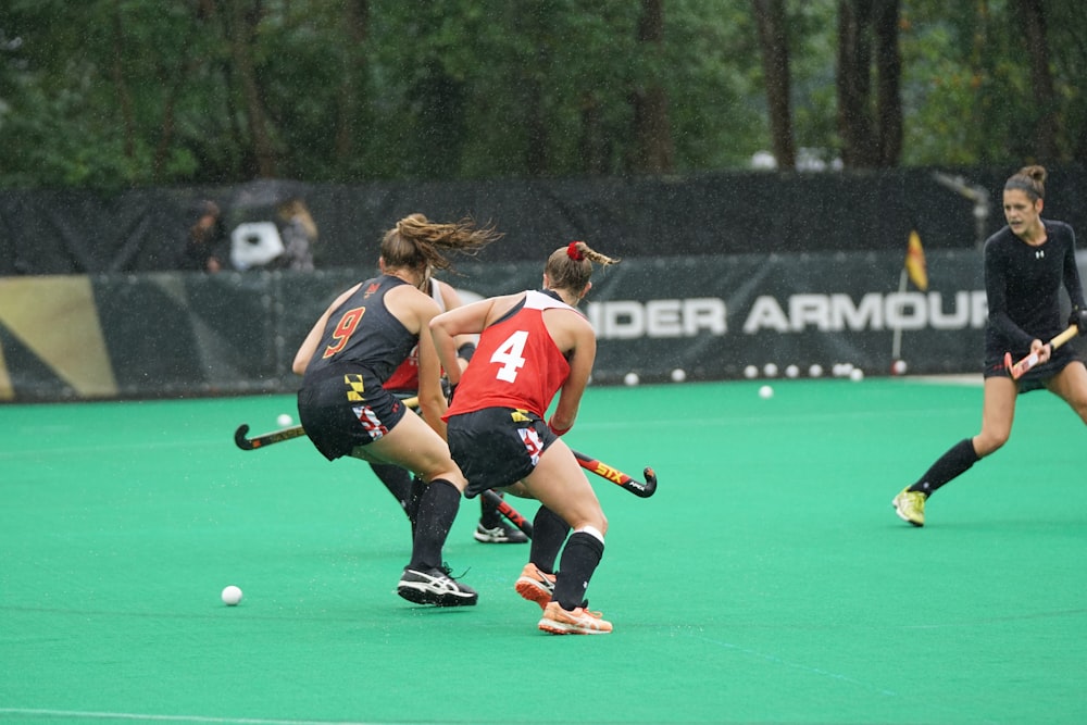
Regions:
M 1029 352 L 1033 340 L 1048 341 L 1061 333 L 1062 286 L 1072 304 L 1084 304 L 1075 233 L 1063 222 L 1041 223 L 1046 241 L 1037 247 L 1008 226 L 985 241 L 986 359 L 1002 358 L 1004 352 L 1017 359 Z

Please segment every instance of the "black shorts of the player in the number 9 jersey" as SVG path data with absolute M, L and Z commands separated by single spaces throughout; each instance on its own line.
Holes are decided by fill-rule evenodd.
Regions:
M 298 391 L 298 418 L 329 461 L 350 455 L 391 430 L 408 408 L 365 371 L 307 380 Z

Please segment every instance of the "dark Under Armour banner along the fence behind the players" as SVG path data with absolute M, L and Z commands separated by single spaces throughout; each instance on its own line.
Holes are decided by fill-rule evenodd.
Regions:
M 602 249 L 607 252 L 607 249 Z M 594 384 L 977 373 L 980 253 L 927 252 L 927 289 L 890 252 L 638 258 L 598 267 L 583 311 Z M 538 288 L 544 260 L 460 263 L 465 301 Z M 1087 255 L 1080 259 L 1087 278 Z M 295 351 L 325 307 L 373 270 L 0 278 L 0 400 L 291 392 Z M 1080 346 L 1076 340 L 1073 346 Z

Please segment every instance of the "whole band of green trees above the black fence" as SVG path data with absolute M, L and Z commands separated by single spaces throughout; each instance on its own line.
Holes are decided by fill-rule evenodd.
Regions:
M 1083 163 L 1073 5 L 9 0 L 0 185 Z

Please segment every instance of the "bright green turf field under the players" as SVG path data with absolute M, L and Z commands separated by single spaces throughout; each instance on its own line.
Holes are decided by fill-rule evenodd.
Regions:
M 1079 420 L 1021 398 L 914 529 L 890 499 L 979 387 L 759 385 L 588 391 L 566 440 L 660 477 L 594 477 L 599 637 L 536 629 L 527 547 L 474 541 L 475 501 L 446 555 L 479 604 L 397 597 L 408 523 L 365 464 L 234 446 L 289 397 L 0 407 L 0 721 L 1087 722 Z

